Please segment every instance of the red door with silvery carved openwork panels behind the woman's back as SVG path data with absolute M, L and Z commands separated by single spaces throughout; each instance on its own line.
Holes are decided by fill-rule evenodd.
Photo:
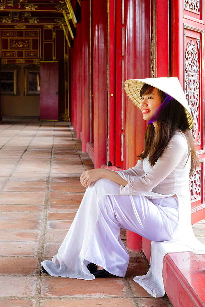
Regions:
M 204 0 L 172 2 L 172 77 L 178 77 L 194 119 L 192 134 L 200 166 L 190 179 L 192 223 L 205 218 Z

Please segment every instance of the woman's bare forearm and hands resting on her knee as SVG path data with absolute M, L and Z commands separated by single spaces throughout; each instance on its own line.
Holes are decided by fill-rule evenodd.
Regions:
M 101 178 L 110 179 L 123 186 L 128 184 L 128 181 L 120 177 L 117 172 L 110 171 L 109 169 L 89 169 L 81 174 L 80 183 L 87 188 L 91 185 L 91 182 Z M 85 179 L 87 180 L 85 181 Z

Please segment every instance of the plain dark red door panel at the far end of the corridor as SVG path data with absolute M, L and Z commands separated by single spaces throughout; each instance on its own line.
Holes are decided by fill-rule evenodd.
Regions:
M 40 120 L 58 120 L 58 61 L 40 65 Z

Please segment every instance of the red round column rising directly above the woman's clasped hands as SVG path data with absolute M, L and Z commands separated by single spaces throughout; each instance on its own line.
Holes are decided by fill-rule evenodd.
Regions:
M 107 2 L 93 0 L 94 164 L 106 164 L 107 143 Z

